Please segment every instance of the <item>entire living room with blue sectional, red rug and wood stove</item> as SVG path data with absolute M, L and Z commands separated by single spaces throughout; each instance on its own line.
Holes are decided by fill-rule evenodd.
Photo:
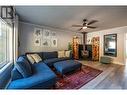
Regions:
M 0 89 L 127 89 L 126 6 L 0 8 Z

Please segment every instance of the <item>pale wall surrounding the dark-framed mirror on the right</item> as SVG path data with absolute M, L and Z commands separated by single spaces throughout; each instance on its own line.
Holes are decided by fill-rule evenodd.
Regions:
M 125 64 L 125 34 L 126 32 L 127 32 L 127 26 L 91 32 L 87 34 L 86 43 L 89 44 L 88 40 L 92 39 L 92 37 L 99 36 L 100 37 L 100 56 L 103 56 L 104 35 L 116 33 L 117 34 L 117 57 L 112 57 L 113 63 L 123 65 Z

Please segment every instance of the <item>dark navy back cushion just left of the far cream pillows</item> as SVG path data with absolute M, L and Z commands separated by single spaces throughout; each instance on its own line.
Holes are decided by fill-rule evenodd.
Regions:
M 58 54 L 56 51 L 54 52 L 43 52 L 42 58 L 45 59 L 51 59 L 51 58 L 57 58 Z

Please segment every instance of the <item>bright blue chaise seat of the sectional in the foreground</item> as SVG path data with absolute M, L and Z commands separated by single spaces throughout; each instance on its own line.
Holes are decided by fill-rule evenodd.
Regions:
M 46 64 L 39 62 L 33 64 L 33 67 L 32 76 L 12 81 L 8 89 L 47 88 L 55 85 L 56 75 Z

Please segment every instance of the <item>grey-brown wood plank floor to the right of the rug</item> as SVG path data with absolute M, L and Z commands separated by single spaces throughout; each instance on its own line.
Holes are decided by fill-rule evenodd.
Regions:
M 117 64 L 101 64 L 80 61 L 84 65 L 103 70 L 103 72 L 81 89 L 127 89 L 127 67 Z

